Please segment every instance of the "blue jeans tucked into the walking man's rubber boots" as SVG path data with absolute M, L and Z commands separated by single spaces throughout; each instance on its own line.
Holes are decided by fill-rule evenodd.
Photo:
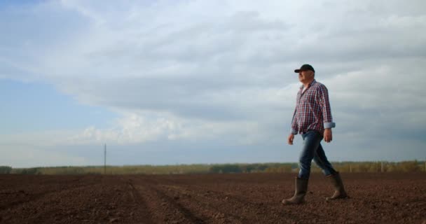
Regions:
M 324 175 L 337 173 L 325 156 L 324 149 L 320 144 L 322 138 L 322 135 L 316 131 L 308 131 L 302 134 L 303 148 L 298 163 L 298 178 L 309 179 L 312 159 L 322 169 Z

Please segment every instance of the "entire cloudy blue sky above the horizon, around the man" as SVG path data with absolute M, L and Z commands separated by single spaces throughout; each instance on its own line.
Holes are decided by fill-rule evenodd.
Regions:
M 0 165 L 297 162 L 312 64 L 331 161 L 426 159 L 426 1 L 0 1 Z

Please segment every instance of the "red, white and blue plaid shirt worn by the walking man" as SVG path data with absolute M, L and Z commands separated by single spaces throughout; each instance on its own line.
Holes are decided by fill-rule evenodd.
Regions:
M 317 83 L 314 79 L 309 83 L 308 88 L 297 93 L 296 109 L 294 109 L 293 120 L 291 121 L 291 133 L 304 133 L 308 130 L 315 130 L 324 133 L 324 128 L 336 127 L 331 118 L 331 108 L 329 102 L 329 92 L 322 83 Z

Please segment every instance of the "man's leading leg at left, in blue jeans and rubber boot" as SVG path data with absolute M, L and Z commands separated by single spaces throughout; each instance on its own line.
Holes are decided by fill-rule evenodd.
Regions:
M 300 204 L 304 202 L 306 192 L 308 191 L 308 179 L 310 176 L 310 164 L 315 155 L 322 137 L 318 132 L 307 132 L 302 134 L 303 148 L 299 158 L 299 173 L 296 178 L 296 189 L 293 197 L 282 200 L 282 204 Z

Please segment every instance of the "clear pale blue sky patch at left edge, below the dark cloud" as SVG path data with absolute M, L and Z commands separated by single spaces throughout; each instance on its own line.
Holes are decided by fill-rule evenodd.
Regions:
M 108 127 L 116 114 L 99 106 L 79 104 L 69 95 L 43 83 L 0 80 L 1 134 L 78 130 L 88 124 Z

